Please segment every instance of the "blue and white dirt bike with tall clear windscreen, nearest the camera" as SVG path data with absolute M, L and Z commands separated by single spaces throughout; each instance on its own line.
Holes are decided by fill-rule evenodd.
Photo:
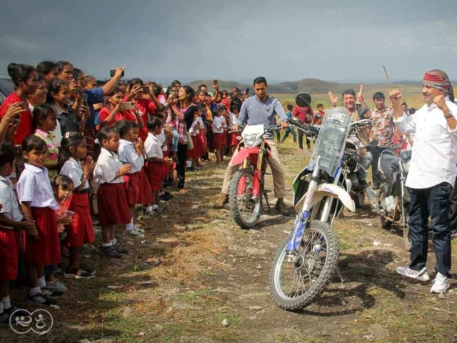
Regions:
M 310 164 L 293 182 L 295 224 L 278 247 L 270 273 L 271 297 L 282 309 L 308 306 L 326 289 L 337 269 L 339 249 L 333 219 L 344 207 L 356 211 L 348 177 L 354 155 L 346 149 L 350 129 L 346 108 L 327 111 Z

